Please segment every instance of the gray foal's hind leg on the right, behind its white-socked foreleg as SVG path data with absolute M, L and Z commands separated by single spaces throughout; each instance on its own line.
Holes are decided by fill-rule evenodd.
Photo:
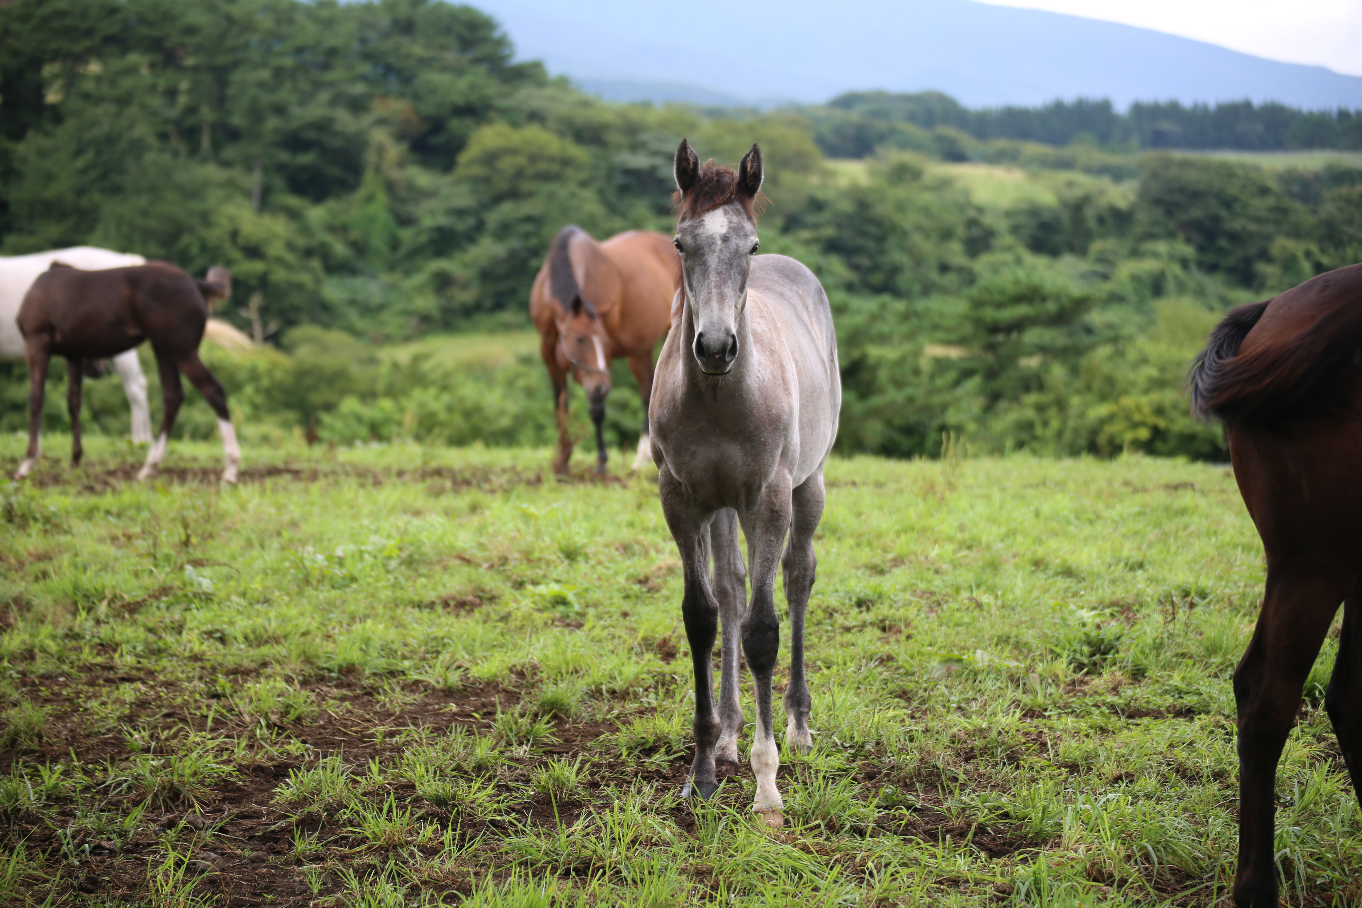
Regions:
M 819 560 L 813 554 L 813 531 L 823 519 L 823 470 L 805 479 L 791 494 L 794 515 L 790 523 L 790 543 L 780 560 L 785 569 L 785 598 L 790 603 L 790 683 L 785 689 L 785 742 L 799 753 L 809 753 L 809 682 L 804 674 L 804 613 L 809 607 L 809 591 L 817 573 Z

